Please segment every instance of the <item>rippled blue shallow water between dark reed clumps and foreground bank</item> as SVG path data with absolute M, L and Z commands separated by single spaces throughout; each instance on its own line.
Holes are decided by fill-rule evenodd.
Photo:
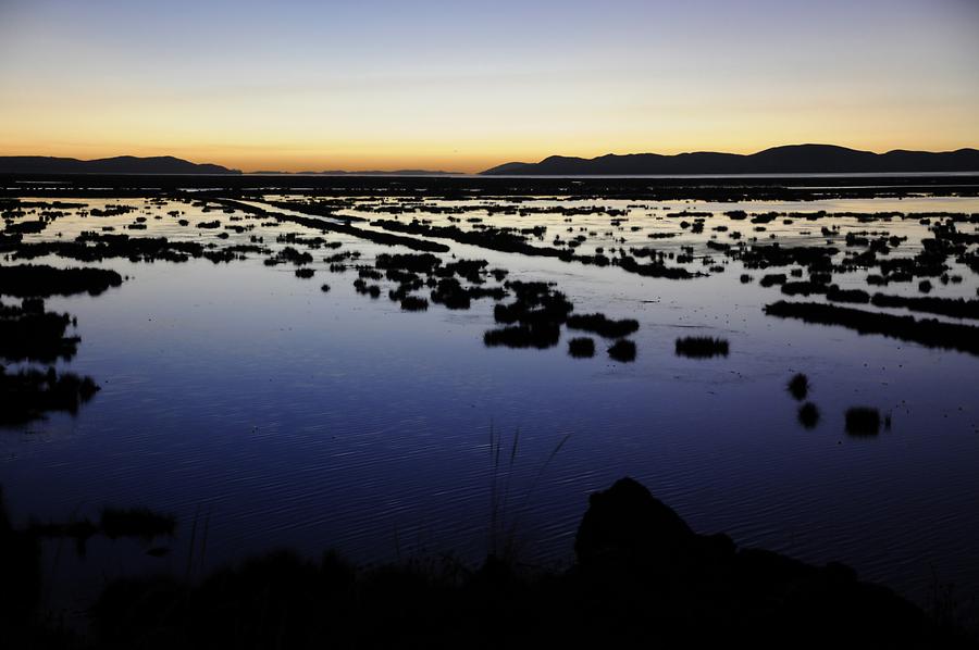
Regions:
M 71 215 L 28 239 L 58 233 L 71 239 L 114 226 L 132 236 L 220 242 L 221 230 L 194 224 L 233 223 L 221 211 L 205 214 L 186 203 L 82 202 L 139 205 L 148 229 L 122 229 L 137 213 Z M 913 254 L 928 234 L 917 218 L 796 218 L 785 225 L 780 217 L 756 233 L 722 212 L 979 212 L 979 200 L 672 201 L 632 209 L 628 201 L 600 199 L 518 203 L 555 204 L 629 210 L 629 221 L 618 230 L 607 214 L 575 215 L 571 223 L 561 214 L 455 216 L 460 227 L 471 226 L 469 217 L 546 225 L 541 246 L 552 245 L 555 235 L 594 232 L 580 248 L 588 253 L 610 246 L 693 246 L 697 257 L 710 254 L 727 270 L 684 282 L 653 279 L 445 241 L 459 258 L 486 259 L 491 268 L 509 270 L 510 278 L 557 283 L 579 313 L 636 318 L 641 328 L 631 338 L 639 357 L 630 364 L 610 361 L 610 341 L 598 337 L 594 359 L 572 359 L 567 333 L 549 350 L 486 348 L 482 334 L 495 326 L 492 300 L 475 300 L 468 311 L 433 304 L 423 313 L 401 312 L 386 299 L 386 286 L 381 299 L 371 300 L 351 287 L 356 272 L 327 273 L 321 260 L 332 250 L 311 251 L 317 274 L 308 280 L 295 277 L 292 265 L 268 267 L 253 254 L 230 264 L 112 260 L 101 265 L 129 276 L 122 287 L 48 300 L 49 309 L 78 318 L 83 342 L 66 366 L 91 375 L 102 390 L 76 417 L 52 415 L 2 432 L 0 483 L 12 513 L 65 518 L 106 504 L 138 504 L 179 521 L 164 559 L 144 555 L 137 542 L 102 541 L 83 560 L 67 545 L 51 542 L 48 574 L 67 584 L 72 598 L 84 598 L 103 575 L 184 572 L 195 520 L 198 545 L 207 528 L 208 567 L 273 546 L 310 554 L 335 547 L 359 562 L 442 551 L 478 560 L 490 543 L 494 474 L 507 495 L 496 527 L 513 530 L 525 561 L 563 563 L 571 559 L 587 495 L 631 475 L 698 532 L 727 532 L 740 545 L 807 561 L 844 561 L 863 577 L 921 601 L 935 578 L 979 595 L 979 358 L 765 316 L 761 307 L 782 298 L 778 287 L 742 285 L 741 264 L 704 246 L 711 235 L 730 240 L 728 233 L 710 230 L 720 224 L 759 242 L 774 234 L 783 246 L 822 242 L 820 227 L 835 224 L 842 234 L 906 235 L 900 253 Z M 449 224 L 447 215 L 418 205 L 400 220 Z M 181 216 L 190 227 L 166 216 L 174 209 L 186 211 Z M 702 235 L 647 237 L 681 232 L 682 218 L 666 215 L 682 210 L 715 216 Z M 347 213 L 389 218 L 357 208 Z M 256 228 L 220 243 L 260 235 L 277 249 L 281 233 L 318 234 L 260 221 L 241 221 Z M 364 263 L 399 250 L 343 235 L 325 238 L 342 241 L 340 251 L 361 251 Z M 690 267 L 701 266 L 697 259 Z M 975 297 L 976 274 L 953 266 L 964 282 L 935 283 L 931 295 Z M 784 270 L 749 273 L 757 278 L 767 272 Z M 863 277 L 834 280 L 863 286 Z M 329 293 L 320 290 L 323 283 L 331 285 Z M 885 291 L 918 295 L 916 283 Z M 692 335 L 728 339 L 730 355 L 677 357 L 674 340 Z M 785 390 L 796 372 L 809 376 L 809 399 L 821 412 L 811 430 L 797 424 L 798 404 Z M 843 415 L 853 405 L 891 414 L 891 430 L 847 436 Z M 496 466 L 491 430 L 504 447 Z M 194 562 L 198 571 L 199 548 Z

